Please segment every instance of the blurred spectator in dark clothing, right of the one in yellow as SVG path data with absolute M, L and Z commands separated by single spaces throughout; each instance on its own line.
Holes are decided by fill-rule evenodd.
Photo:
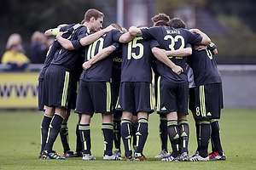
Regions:
M 44 59 L 47 54 L 47 37 L 43 32 L 35 31 L 31 37 L 30 59 L 32 64 L 44 64 Z

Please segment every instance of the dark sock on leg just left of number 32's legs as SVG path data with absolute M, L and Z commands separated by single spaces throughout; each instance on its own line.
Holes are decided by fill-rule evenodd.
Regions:
M 160 116 L 160 140 L 161 140 L 161 150 L 166 150 L 168 152 L 167 142 L 167 119 L 164 116 Z

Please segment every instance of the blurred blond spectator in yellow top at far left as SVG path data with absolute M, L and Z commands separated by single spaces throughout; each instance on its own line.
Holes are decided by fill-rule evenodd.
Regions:
M 24 53 L 20 34 L 13 33 L 8 38 L 6 52 L 3 54 L 1 62 L 9 65 L 11 70 L 24 69 L 30 63 L 30 59 Z

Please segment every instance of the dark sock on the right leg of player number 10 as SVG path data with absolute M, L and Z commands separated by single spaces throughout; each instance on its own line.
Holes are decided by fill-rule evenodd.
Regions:
M 102 123 L 102 134 L 104 137 L 104 156 L 112 156 L 113 152 L 113 124 Z

